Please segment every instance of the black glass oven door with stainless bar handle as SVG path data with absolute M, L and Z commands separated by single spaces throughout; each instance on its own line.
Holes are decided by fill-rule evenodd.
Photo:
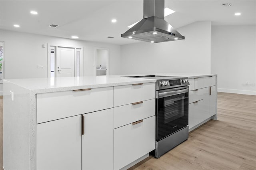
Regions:
M 188 86 L 156 92 L 156 141 L 188 125 Z

